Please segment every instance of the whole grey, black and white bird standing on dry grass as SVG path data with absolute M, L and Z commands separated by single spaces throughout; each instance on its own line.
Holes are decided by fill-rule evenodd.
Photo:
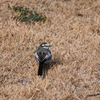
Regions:
M 35 59 L 39 63 L 38 75 L 40 76 L 42 76 L 44 63 L 50 61 L 52 57 L 49 47 L 51 47 L 51 45 L 47 44 L 46 42 L 43 42 L 40 44 L 39 48 L 36 51 Z

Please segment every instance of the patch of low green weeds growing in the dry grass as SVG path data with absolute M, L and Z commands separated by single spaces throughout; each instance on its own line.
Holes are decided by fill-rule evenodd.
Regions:
M 13 10 L 18 13 L 18 15 L 14 16 L 13 19 L 19 20 L 21 22 L 26 23 L 34 23 L 38 21 L 46 21 L 46 16 L 43 15 L 43 13 L 37 13 L 36 11 L 29 10 L 29 8 L 26 7 L 13 7 Z

